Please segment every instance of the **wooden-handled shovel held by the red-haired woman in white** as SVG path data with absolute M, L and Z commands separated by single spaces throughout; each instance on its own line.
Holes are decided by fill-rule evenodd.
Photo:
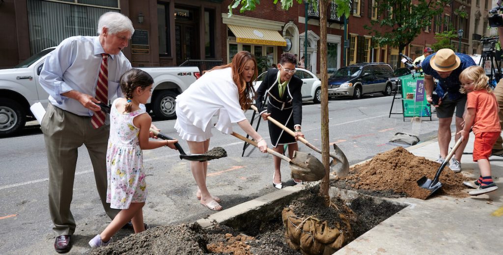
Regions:
M 236 133 L 232 133 L 231 135 L 250 145 L 258 147 L 257 142 L 255 141 L 251 141 Z M 267 152 L 288 162 L 290 164 L 290 169 L 292 170 L 292 178 L 294 179 L 314 182 L 323 179 L 325 176 L 325 167 L 323 164 L 310 154 L 295 151 L 293 153 L 293 159 L 290 159 L 287 156 L 277 153 L 269 148 L 267 148 Z

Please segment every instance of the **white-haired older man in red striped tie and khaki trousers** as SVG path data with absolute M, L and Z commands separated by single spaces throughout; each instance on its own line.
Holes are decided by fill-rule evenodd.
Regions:
M 80 146 L 88 149 L 106 213 L 114 218 L 119 212 L 106 202 L 110 122 L 98 103 L 108 104 L 115 95 L 122 96 L 119 78 L 131 69 L 131 63 L 121 51 L 133 33 L 128 17 L 105 13 L 98 22 L 99 36 L 63 40 L 49 54 L 40 73 L 40 84 L 49 93 L 41 128 L 49 164 L 49 211 L 57 252 L 70 250 L 70 236 L 76 227 L 70 203 Z

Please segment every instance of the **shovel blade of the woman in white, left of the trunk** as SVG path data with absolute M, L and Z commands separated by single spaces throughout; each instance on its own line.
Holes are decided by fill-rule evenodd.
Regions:
M 308 153 L 295 151 L 290 161 L 290 169 L 292 170 L 292 178 L 306 182 L 319 181 L 325 176 L 323 164 Z

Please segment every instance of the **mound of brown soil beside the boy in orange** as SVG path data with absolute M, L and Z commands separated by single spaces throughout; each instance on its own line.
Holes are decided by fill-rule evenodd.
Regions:
M 348 177 L 334 178 L 331 186 L 357 190 L 381 197 L 414 197 L 426 199 L 430 191 L 420 188 L 416 181 L 426 176 L 434 179 L 440 164 L 397 147 L 376 155 L 372 160 L 353 167 Z M 442 188 L 435 194 L 467 197 L 463 181 L 475 180 L 452 172 L 448 167 L 440 175 Z

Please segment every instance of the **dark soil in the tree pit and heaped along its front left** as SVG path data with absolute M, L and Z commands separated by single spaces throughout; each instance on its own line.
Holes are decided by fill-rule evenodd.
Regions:
M 290 203 L 291 208 L 299 217 L 315 215 L 320 220 L 326 220 L 330 226 L 337 225 L 341 220 L 340 214 L 348 215 L 351 230 L 343 230 L 351 231 L 351 235 L 346 238 L 346 243 L 405 207 L 365 195 L 352 201 L 332 198 L 335 206 L 325 207 L 318 191 L 319 186 L 310 187 L 306 196 Z M 247 222 L 246 229 L 222 224 L 203 229 L 197 223 L 158 226 L 94 249 L 91 254 L 301 254 L 286 244 L 281 215 L 269 219 L 257 217 L 257 221 Z M 251 225 L 255 227 L 249 228 Z

